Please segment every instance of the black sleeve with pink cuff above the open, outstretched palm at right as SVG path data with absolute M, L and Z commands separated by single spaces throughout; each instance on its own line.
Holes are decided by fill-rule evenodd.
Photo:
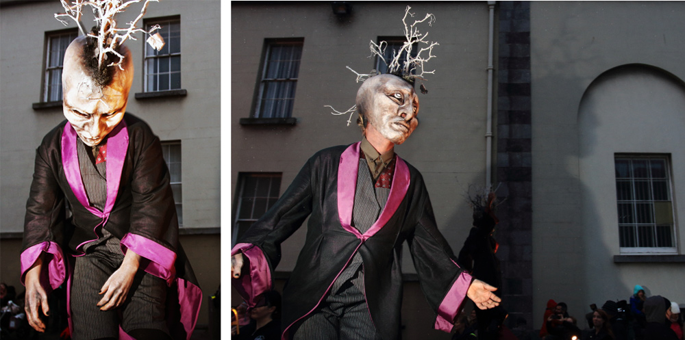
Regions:
M 434 327 L 449 332 L 473 279 L 454 261 L 449 244 L 436 226 L 428 193 L 421 186 L 422 212 L 414 234 L 408 238 L 409 249 L 421 290 L 436 311 Z

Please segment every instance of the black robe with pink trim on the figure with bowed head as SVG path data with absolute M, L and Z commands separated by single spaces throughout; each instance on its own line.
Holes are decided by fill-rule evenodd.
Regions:
M 26 204 L 22 283 L 27 269 L 42 252 L 47 252 L 51 257 L 44 267 L 47 267 L 49 282 L 42 285 L 58 287 L 69 278 L 70 257 L 64 255 L 82 254 L 83 244 L 102 237 L 101 228 L 105 228 L 122 240 L 123 248 L 130 248 L 143 257 L 141 270 L 167 281 L 173 289 L 170 295 L 181 299 L 171 304 L 179 307 L 182 314 L 170 317 L 180 319 L 184 324 L 184 328 L 179 329 L 175 323 L 169 330 L 172 334 L 190 337 L 197 322 L 201 291 L 178 242 L 178 220 L 169 170 L 162 157 L 159 138 L 147 123 L 132 114 L 125 114 L 122 122 L 110 132 L 108 203 L 103 212 L 89 206 L 88 199 L 84 200 L 84 190 L 75 189 L 75 182 L 80 181 L 78 161 L 74 159 L 77 137 L 67 124 L 64 120 L 47 133 L 36 150 L 31 192 Z M 117 146 L 121 148 L 121 157 L 112 155 Z M 63 159 L 64 155 L 72 157 Z M 119 162 L 119 166 L 115 162 Z M 115 169 L 121 169 L 121 174 Z M 118 185 L 110 185 L 117 182 Z M 71 211 L 69 217 L 65 212 L 65 200 Z

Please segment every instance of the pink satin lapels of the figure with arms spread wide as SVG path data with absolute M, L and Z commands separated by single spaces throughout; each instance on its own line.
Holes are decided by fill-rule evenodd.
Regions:
M 393 174 L 393 184 L 390 186 L 388 202 L 379 215 L 378 220 L 362 235 L 356 228 L 351 226 L 352 209 L 354 207 L 354 193 L 357 187 L 357 172 L 359 170 L 359 155 L 361 142 L 352 144 L 340 155 L 340 165 L 338 166 L 338 215 L 340 224 L 346 231 L 353 233 L 362 241 L 373 236 L 390 220 L 397 211 L 400 202 L 407 194 L 410 183 L 409 167 L 399 156 L 397 156 L 397 166 Z

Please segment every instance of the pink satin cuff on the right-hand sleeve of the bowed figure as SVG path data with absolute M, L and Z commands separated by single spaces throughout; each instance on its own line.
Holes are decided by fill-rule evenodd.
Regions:
M 173 280 L 176 278 L 174 267 L 176 261 L 175 252 L 151 239 L 132 233 L 127 233 L 121 239 L 121 251 L 126 254 L 127 249 L 149 260 L 140 263 L 142 270 L 154 276 L 164 278 L 168 285 L 173 283 Z

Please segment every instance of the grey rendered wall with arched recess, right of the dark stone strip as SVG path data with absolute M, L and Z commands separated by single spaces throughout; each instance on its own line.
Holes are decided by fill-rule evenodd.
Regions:
M 602 112 L 590 118 L 599 121 L 584 123 L 579 117 L 581 101 L 590 83 L 617 66 L 645 64 L 685 79 L 682 64 L 685 5 L 534 1 L 530 8 L 534 320 L 542 319 L 550 298 L 567 302 L 569 313 L 581 317 L 590 310 L 590 303 L 601 306 L 606 300 L 627 299 L 633 285 L 647 282 L 652 294 L 668 296 L 677 302 L 685 300 L 682 289 L 678 291 L 669 285 L 669 282 L 675 282 L 674 279 L 678 280 L 673 274 L 682 273 L 682 263 L 613 262 L 613 256 L 619 254 L 614 235 L 618 226 L 615 179 L 610 172 L 613 155 L 608 151 L 619 150 L 609 145 L 621 142 L 614 138 L 622 129 L 635 138 L 632 132 L 637 126 L 643 135 L 665 133 L 667 135 L 662 136 L 664 143 L 659 148 L 654 144 L 656 140 L 646 138 L 623 144 L 621 150 L 630 151 L 629 146 L 633 146 L 631 152 L 668 152 L 673 157 L 673 173 L 685 171 L 682 161 L 677 160 L 682 158 L 682 137 L 675 132 L 677 128 L 640 125 L 640 122 L 651 120 L 651 112 L 660 111 L 662 102 L 654 99 L 651 112 L 641 112 L 638 116 Z M 661 114 L 659 121 L 675 123 L 676 127 L 682 125 L 682 112 Z M 597 124 L 599 122 L 604 124 Z M 583 139 L 583 133 L 588 131 L 581 127 L 588 126 L 595 126 L 590 133 L 609 144 L 600 145 L 600 140 Z M 675 144 L 679 141 L 680 144 Z M 583 150 L 596 146 L 601 148 L 593 152 L 603 152 L 602 157 L 584 157 Z M 601 164 L 595 161 L 599 159 Z M 602 199 L 598 200 L 593 195 L 599 192 L 602 192 Z M 613 202 L 608 200 L 612 193 Z M 677 199 L 685 193 L 682 186 L 676 185 L 673 194 Z M 677 202 L 675 205 L 677 207 Z M 680 254 L 682 230 L 681 221 L 676 235 Z M 540 325 L 538 321 L 533 326 L 539 328 Z

